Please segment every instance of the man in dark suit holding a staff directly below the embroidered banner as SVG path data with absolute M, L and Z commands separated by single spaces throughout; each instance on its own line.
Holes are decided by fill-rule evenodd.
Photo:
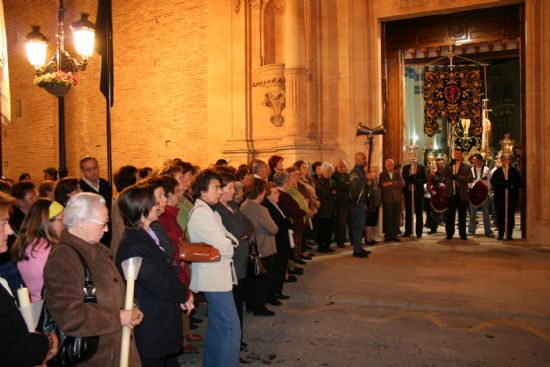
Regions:
M 445 231 L 447 239 L 453 238 L 455 233 L 455 219 L 458 210 L 458 233 L 462 240 L 466 236 L 466 211 L 468 210 L 468 183 L 474 180 L 470 166 L 462 161 L 463 155 L 460 148 L 454 151 L 454 159 L 443 170 L 442 177 L 445 180 L 445 196 L 449 198 L 447 221 Z

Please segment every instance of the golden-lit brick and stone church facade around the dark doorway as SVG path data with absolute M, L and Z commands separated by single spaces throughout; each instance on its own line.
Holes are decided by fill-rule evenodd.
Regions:
M 2 128 L 6 176 L 41 176 L 55 166 L 57 101 L 33 85 L 24 55 L 31 24 L 41 24 L 53 53 L 58 1 L 4 0 L 12 121 Z M 207 166 L 224 157 L 238 165 L 272 154 L 352 160 L 364 151 L 358 122 L 386 122 L 382 34 L 385 21 L 486 9 L 508 0 L 147 0 L 113 1 L 115 95 L 113 169 L 158 166 L 181 157 Z M 97 1 L 67 0 L 67 25 Z M 525 147 L 527 238 L 550 238 L 550 2 L 526 0 Z M 72 37 L 67 32 L 67 49 Z M 98 157 L 105 175 L 105 101 L 100 57 L 79 72 L 66 100 L 69 173 Z M 391 128 L 388 127 L 388 128 Z M 375 138 L 374 162 L 385 158 Z M 394 148 L 395 148 L 394 147 Z M 386 147 L 387 148 L 387 147 Z M 395 150 L 394 150 L 395 151 Z

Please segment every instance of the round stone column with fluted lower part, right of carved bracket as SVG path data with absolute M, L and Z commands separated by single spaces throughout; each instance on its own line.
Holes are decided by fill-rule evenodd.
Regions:
M 285 124 L 292 139 L 305 131 L 308 70 L 304 1 L 286 1 L 285 5 Z

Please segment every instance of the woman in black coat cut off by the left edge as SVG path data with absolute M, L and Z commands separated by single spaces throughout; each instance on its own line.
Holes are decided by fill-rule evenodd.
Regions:
M 8 218 L 14 203 L 15 199 L 0 192 L 0 253 L 8 250 L 8 236 L 13 234 Z M 37 366 L 45 364 L 57 353 L 57 337 L 54 333 L 29 333 L 15 298 L 3 278 L 0 278 L 0 310 L 0 356 L 3 366 Z

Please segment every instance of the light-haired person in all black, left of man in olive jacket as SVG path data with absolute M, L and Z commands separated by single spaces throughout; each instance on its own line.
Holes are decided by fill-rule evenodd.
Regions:
M 321 175 L 317 181 L 317 197 L 321 206 L 317 212 L 319 222 L 319 252 L 334 252 L 330 248 L 332 231 L 334 230 L 334 213 L 336 211 L 336 182 L 332 179 L 334 166 L 323 162 L 320 166 Z

